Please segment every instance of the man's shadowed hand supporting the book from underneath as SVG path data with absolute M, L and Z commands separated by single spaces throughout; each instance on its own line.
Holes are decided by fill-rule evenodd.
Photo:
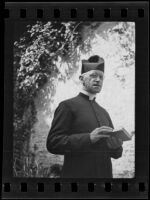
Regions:
M 107 145 L 110 149 L 117 149 L 123 144 L 122 140 L 116 137 L 107 138 Z

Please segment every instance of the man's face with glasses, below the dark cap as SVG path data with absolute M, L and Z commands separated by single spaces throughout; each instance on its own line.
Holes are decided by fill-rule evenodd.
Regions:
M 82 83 L 84 89 L 92 94 L 99 93 L 102 88 L 104 73 L 100 70 L 91 70 L 83 74 Z

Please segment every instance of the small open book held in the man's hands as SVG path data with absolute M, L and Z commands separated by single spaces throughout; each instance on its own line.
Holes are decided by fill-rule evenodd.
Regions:
M 108 132 L 108 133 L 104 133 L 110 136 L 114 136 L 117 138 L 122 139 L 122 141 L 128 141 L 132 139 L 133 134 L 129 134 L 124 128 L 121 128 L 119 130 L 113 130 L 113 132 Z

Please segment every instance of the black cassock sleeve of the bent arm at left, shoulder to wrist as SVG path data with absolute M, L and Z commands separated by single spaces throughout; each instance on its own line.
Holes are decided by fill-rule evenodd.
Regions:
M 46 146 L 53 154 L 64 155 L 70 152 L 87 152 L 92 148 L 90 133 L 71 134 L 73 114 L 68 105 L 62 102 L 57 107 Z

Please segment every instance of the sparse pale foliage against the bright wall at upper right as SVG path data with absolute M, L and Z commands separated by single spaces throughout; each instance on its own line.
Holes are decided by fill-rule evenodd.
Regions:
M 122 84 L 125 83 L 125 68 L 130 68 L 135 63 L 135 24 L 132 22 L 120 22 L 115 27 L 108 30 L 107 35 L 117 46 L 117 54 L 121 66 L 114 75 Z M 123 73 L 119 73 L 122 71 Z

